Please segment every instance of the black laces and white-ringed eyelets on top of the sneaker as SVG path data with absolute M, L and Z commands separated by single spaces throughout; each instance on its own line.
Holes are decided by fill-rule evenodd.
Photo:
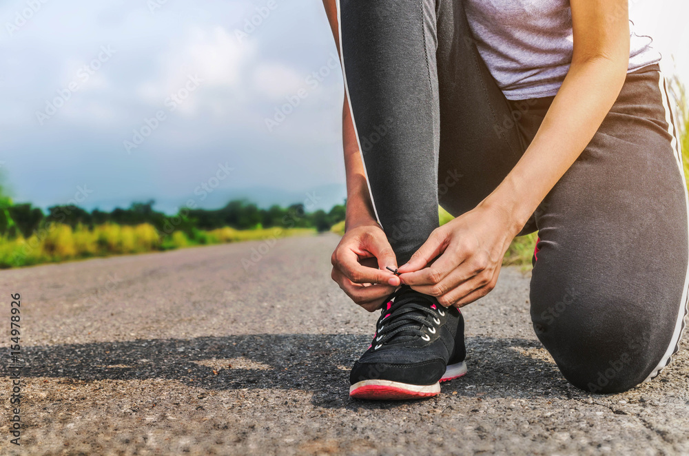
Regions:
M 440 324 L 437 315 L 444 316 L 445 312 L 433 298 L 403 286 L 383 307 L 371 345 L 378 350 L 383 344 L 410 342 L 418 338 L 430 340 L 426 331 L 435 333 L 435 327 Z

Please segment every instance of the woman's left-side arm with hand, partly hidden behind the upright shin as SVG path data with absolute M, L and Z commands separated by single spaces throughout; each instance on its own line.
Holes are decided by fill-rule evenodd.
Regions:
M 323 6 L 339 54 L 340 32 L 336 1 L 323 0 Z M 397 259 L 373 214 L 347 94 L 342 107 L 342 146 L 347 175 L 347 214 L 345 236 L 331 257 L 331 276 L 354 302 L 373 311 L 395 290 L 400 279 L 386 269 L 396 269 Z

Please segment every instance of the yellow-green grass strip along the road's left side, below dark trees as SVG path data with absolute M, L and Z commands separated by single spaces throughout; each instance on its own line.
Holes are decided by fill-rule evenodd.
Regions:
M 109 223 L 97 225 L 93 229 L 82 225 L 77 225 L 75 229 L 72 229 L 69 225 L 54 223 L 29 238 L 0 237 L 0 268 L 311 234 L 316 234 L 316 230 L 310 228 L 238 230 L 226 227 L 212 231 L 195 229 L 190 236 L 183 231 L 174 231 L 172 235 L 161 236 L 153 225 L 147 223 L 136 226 Z

